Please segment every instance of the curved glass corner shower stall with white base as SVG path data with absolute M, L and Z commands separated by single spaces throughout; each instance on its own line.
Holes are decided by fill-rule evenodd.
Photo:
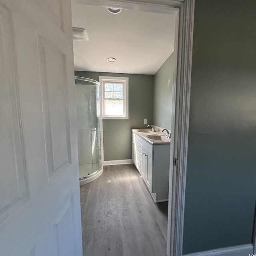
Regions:
M 100 83 L 75 76 L 80 186 L 102 174 Z

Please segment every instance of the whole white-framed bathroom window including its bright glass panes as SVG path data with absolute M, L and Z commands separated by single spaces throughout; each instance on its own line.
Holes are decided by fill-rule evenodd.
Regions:
M 128 119 L 128 78 L 100 76 L 102 119 Z

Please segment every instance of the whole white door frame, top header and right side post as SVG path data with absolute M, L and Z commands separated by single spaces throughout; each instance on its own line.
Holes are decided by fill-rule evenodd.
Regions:
M 73 0 L 75 4 L 176 14 L 167 255 L 182 256 L 195 0 Z M 175 79 L 176 78 L 176 79 Z M 174 158 L 178 164 L 174 165 Z

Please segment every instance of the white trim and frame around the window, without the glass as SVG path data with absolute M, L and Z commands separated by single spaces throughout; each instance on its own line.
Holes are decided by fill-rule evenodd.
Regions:
M 128 77 L 116 77 L 116 76 L 100 76 L 100 118 L 101 119 L 129 119 L 129 78 Z M 124 104 L 124 116 L 105 116 L 103 115 L 103 95 L 104 95 L 104 88 L 103 82 L 124 82 L 125 84 L 125 104 Z

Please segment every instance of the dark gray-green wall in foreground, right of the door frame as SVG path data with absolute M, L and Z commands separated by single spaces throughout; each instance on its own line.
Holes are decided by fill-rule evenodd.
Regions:
M 256 1 L 196 0 L 183 254 L 250 244 Z

